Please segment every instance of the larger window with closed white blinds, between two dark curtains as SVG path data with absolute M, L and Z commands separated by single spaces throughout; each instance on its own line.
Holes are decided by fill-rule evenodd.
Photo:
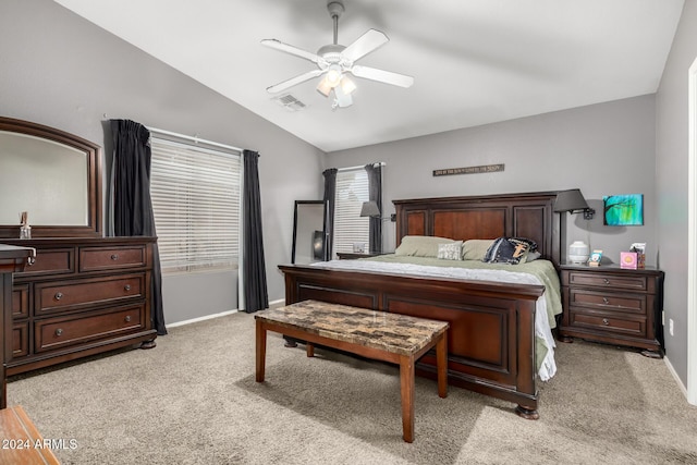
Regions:
M 241 154 L 151 137 L 150 195 L 162 273 L 237 266 Z

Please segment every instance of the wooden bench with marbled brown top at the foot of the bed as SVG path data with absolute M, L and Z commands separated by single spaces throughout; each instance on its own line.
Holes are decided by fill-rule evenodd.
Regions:
M 307 342 L 307 356 L 315 344 L 400 366 L 402 430 L 414 441 L 414 366 L 436 347 L 438 395 L 448 395 L 448 327 L 429 320 L 386 311 L 304 301 L 255 314 L 256 381 L 262 382 L 266 365 L 266 332 L 273 331 Z

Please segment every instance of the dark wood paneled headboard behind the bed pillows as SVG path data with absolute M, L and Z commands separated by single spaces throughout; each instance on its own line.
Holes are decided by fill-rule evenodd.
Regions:
M 396 209 L 396 245 L 405 235 L 432 235 L 456 241 L 528 237 L 543 258 L 561 259 L 557 192 L 392 200 Z

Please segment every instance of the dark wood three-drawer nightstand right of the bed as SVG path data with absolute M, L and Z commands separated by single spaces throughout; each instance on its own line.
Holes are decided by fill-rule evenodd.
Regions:
M 588 341 L 644 348 L 663 356 L 663 271 L 619 265 L 561 265 L 563 342 Z

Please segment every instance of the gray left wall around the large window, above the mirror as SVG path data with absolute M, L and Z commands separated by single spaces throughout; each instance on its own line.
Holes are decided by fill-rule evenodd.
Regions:
M 258 150 L 269 298 L 284 297 L 277 265 L 290 262 L 293 200 L 321 193 L 316 147 L 50 0 L 0 1 L 0 114 L 95 142 L 106 167 L 107 119 Z M 231 310 L 236 273 L 166 277 L 163 294 L 167 322 Z

